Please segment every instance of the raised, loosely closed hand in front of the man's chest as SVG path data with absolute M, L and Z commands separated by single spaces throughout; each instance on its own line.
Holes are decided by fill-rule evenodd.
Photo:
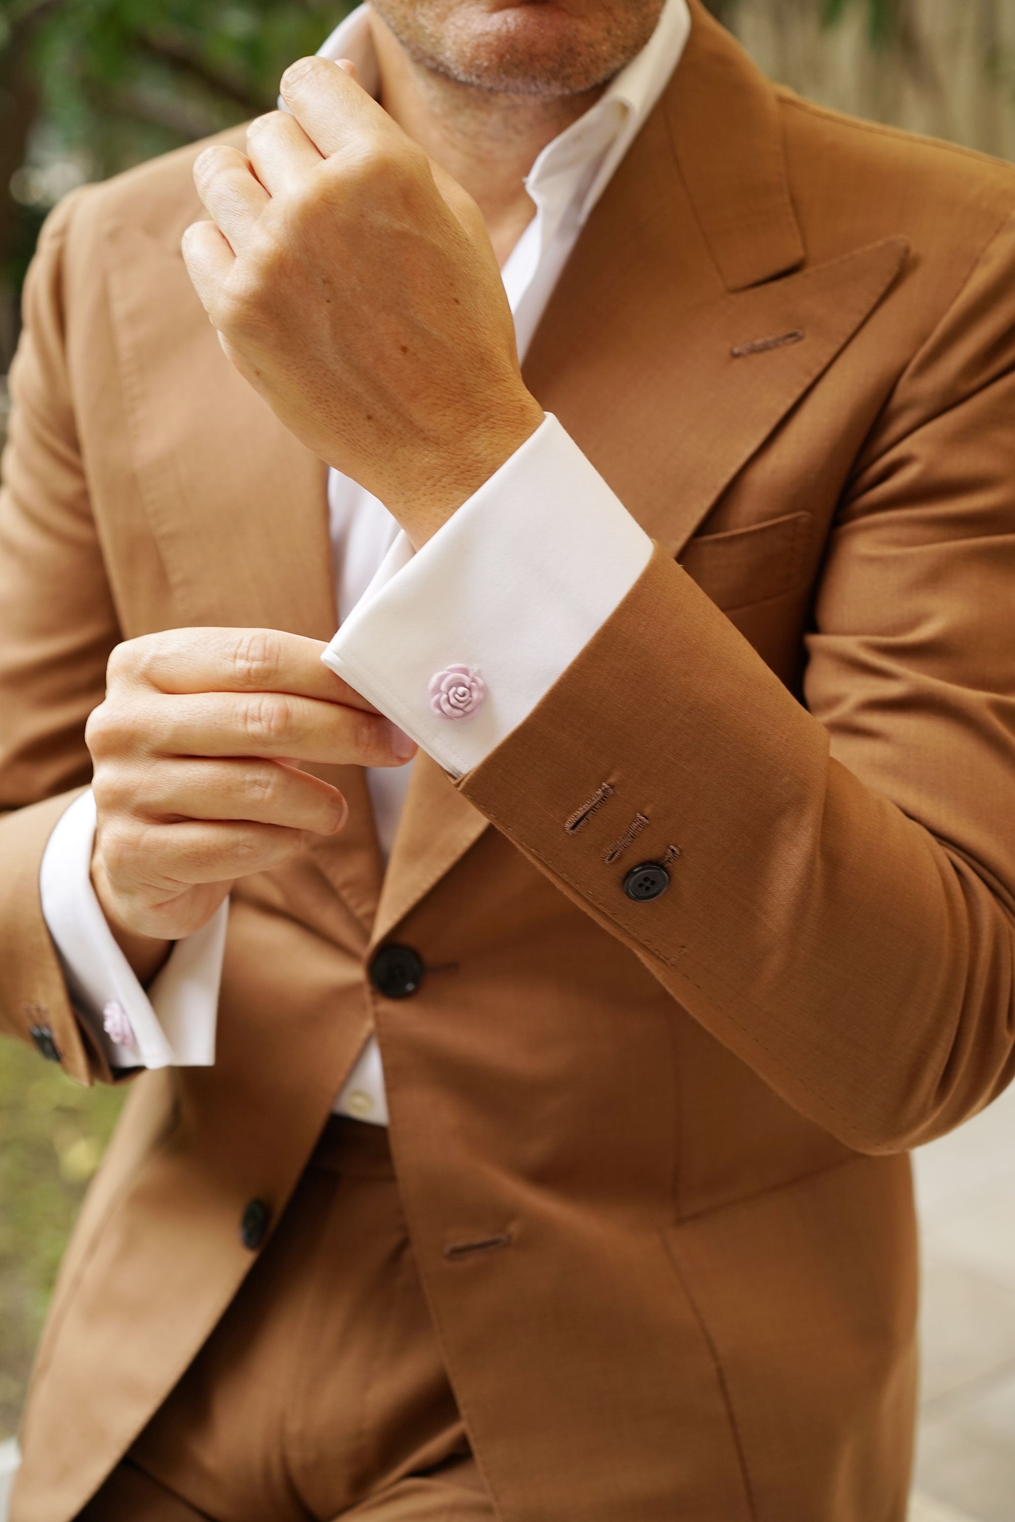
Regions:
M 539 428 L 475 201 L 342 67 L 195 164 L 190 279 L 236 368 L 422 545 Z

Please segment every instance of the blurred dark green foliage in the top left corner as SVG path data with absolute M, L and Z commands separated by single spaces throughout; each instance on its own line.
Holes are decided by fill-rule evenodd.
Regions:
M 73 184 L 271 110 L 285 67 L 317 52 L 350 9 L 0 0 L 0 282 L 20 286 L 41 218 Z

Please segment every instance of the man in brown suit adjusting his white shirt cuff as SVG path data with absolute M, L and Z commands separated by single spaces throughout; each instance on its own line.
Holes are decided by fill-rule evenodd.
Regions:
M 772 87 L 697 0 L 654 91 L 680 6 L 379 5 L 379 81 L 300 65 L 198 160 L 187 268 L 196 151 L 43 236 L 2 1014 L 81 1082 L 158 1070 L 15 1522 L 905 1516 L 907 1149 L 1015 1047 L 1015 172 Z M 534 204 L 533 280 L 571 240 L 519 373 Z M 345 489 L 405 534 L 326 650 Z M 93 764 L 105 1026 L 40 887 Z M 184 1061 L 198 995 L 146 1036 L 140 985 L 216 915 Z

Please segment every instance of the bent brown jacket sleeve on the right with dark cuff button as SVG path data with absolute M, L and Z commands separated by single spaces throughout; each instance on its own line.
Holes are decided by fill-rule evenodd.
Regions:
M 1015 1064 L 1013 589 L 1009 227 L 857 461 L 807 706 L 657 549 L 460 785 L 799 1111 L 861 1151 L 913 1146 Z M 670 848 L 667 893 L 627 898 Z

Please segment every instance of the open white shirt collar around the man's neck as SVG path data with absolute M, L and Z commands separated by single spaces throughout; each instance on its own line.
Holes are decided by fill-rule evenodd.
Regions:
M 348 58 L 356 65 L 364 90 L 376 96 L 380 76 L 367 9 L 367 5 L 361 5 L 347 15 L 321 46 L 320 55 Z M 571 186 L 575 180 L 586 181 L 577 209 L 578 222 L 586 221 L 665 90 L 689 32 L 691 12 L 686 0 L 665 0 L 656 30 L 641 53 L 616 75 L 592 110 L 548 143 L 533 164 L 525 187 L 537 205 L 543 189 L 558 175 L 566 177 Z

